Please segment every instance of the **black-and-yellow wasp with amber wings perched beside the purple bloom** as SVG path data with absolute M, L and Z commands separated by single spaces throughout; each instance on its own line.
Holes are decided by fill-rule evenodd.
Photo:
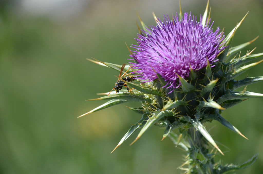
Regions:
M 127 74 L 126 77 L 125 77 L 125 73 L 127 73 L 130 68 L 122 76 L 120 76 L 122 74 L 122 71 L 123 71 L 125 65 L 126 65 L 126 63 L 124 63 L 122 65 L 122 68 L 120 68 L 120 74 L 119 74 L 119 79 L 121 79 L 123 76 L 124 76 L 124 78 L 122 78 L 122 80 L 118 80 L 115 83 L 114 88 L 112 89 L 112 90 L 116 91 L 116 94 L 119 92 L 119 90 L 122 89 L 123 86 L 125 86 L 127 88 L 128 92 L 130 92 L 132 89 L 134 89 L 134 88 L 132 88 L 132 89 L 129 90 L 129 87 L 127 86 L 127 83 L 125 83 L 125 81 L 128 81 L 128 82 L 134 81 L 134 78 L 135 78 L 134 75 Z M 110 93 L 108 95 L 110 95 Z

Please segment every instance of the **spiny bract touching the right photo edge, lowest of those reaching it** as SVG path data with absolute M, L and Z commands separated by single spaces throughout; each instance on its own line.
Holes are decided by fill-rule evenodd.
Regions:
M 249 91 L 231 91 L 227 90 L 228 94 L 221 96 L 216 103 L 221 104 L 224 101 L 231 100 L 231 99 L 238 99 L 238 98 L 258 98 L 263 97 L 263 94 L 260 93 L 252 93 Z

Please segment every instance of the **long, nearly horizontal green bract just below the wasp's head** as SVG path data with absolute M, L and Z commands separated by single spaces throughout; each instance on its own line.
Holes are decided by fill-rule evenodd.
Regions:
M 97 99 L 89 99 L 89 100 L 111 100 L 111 99 L 121 99 L 121 100 L 130 100 L 130 101 L 147 101 L 149 103 L 151 103 L 151 99 L 146 98 L 146 96 L 144 95 L 131 95 L 131 94 L 127 94 L 127 93 L 123 93 L 123 94 L 114 94 L 114 95 L 108 95 L 108 96 L 104 96 L 104 97 L 100 97 Z

